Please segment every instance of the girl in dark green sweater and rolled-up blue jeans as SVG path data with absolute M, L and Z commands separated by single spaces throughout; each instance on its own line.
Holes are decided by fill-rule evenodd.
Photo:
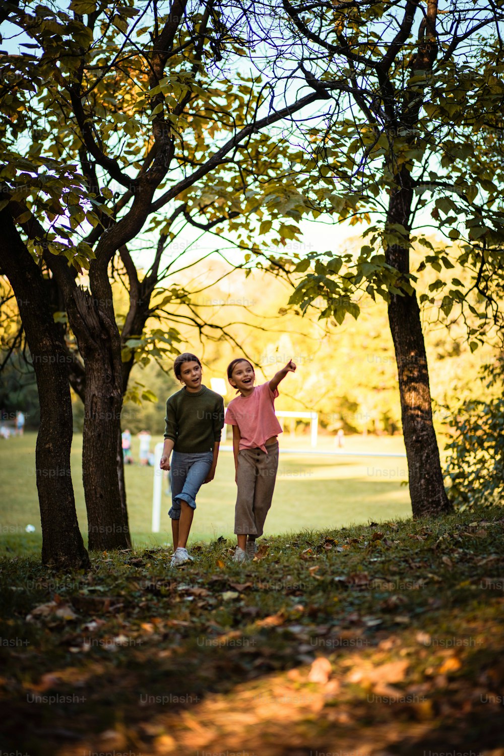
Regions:
M 172 472 L 173 556 L 171 567 L 180 567 L 193 557 L 187 552 L 187 538 L 196 509 L 196 494 L 203 483 L 214 479 L 224 400 L 201 383 L 201 362 L 196 355 L 178 355 L 173 365 L 180 391 L 166 402 L 165 444 L 159 466 Z M 172 454 L 170 466 L 170 454 Z

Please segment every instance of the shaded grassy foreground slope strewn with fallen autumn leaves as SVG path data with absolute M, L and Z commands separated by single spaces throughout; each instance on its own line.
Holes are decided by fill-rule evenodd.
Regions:
M 502 756 L 501 507 L 230 545 L 0 557 L 2 753 Z

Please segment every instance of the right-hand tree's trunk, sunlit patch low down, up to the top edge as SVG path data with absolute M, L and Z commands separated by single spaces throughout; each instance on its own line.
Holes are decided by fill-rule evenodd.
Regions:
M 427 14 L 419 26 L 419 49 L 410 60 L 412 73 L 431 71 L 438 54 L 435 34 L 438 16 L 438 0 L 428 0 Z M 393 95 L 391 85 L 388 96 Z M 396 133 L 408 147 L 418 147 L 415 128 L 418 123 L 423 97 L 413 87 L 404 97 L 400 113 L 395 113 L 394 102 L 388 102 L 388 112 L 397 122 Z M 387 213 L 387 226 L 402 227 L 402 241 L 385 250 L 385 260 L 402 274 L 410 273 L 411 209 L 413 206 L 413 181 L 410 169 L 402 163 L 388 164 L 394 176 L 395 191 L 392 192 Z M 394 226 L 395 225 L 395 226 Z M 386 227 L 385 227 L 386 228 Z M 388 305 L 388 320 L 394 341 L 397 373 L 399 376 L 400 409 L 403 421 L 404 444 L 410 474 L 410 497 L 413 517 L 439 515 L 450 512 L 453 507 L 444 490 L 443 474 L 439 459 L 438 442 L 432 422 L 431 389 L 428 383 L 427 355 L 420 321 L 420 308 L 416 294 L 404 292 L 404 296 L 391 294 Z

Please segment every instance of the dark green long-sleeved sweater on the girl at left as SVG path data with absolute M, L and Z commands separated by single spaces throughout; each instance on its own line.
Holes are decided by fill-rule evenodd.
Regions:
M 184 386 L 166 402 L 165 423 L 165 438 L 175 442 L 174 451 L 213 451 L 224 427 L 224 400 L 206 386 L 196 393 L 186 391 Z

